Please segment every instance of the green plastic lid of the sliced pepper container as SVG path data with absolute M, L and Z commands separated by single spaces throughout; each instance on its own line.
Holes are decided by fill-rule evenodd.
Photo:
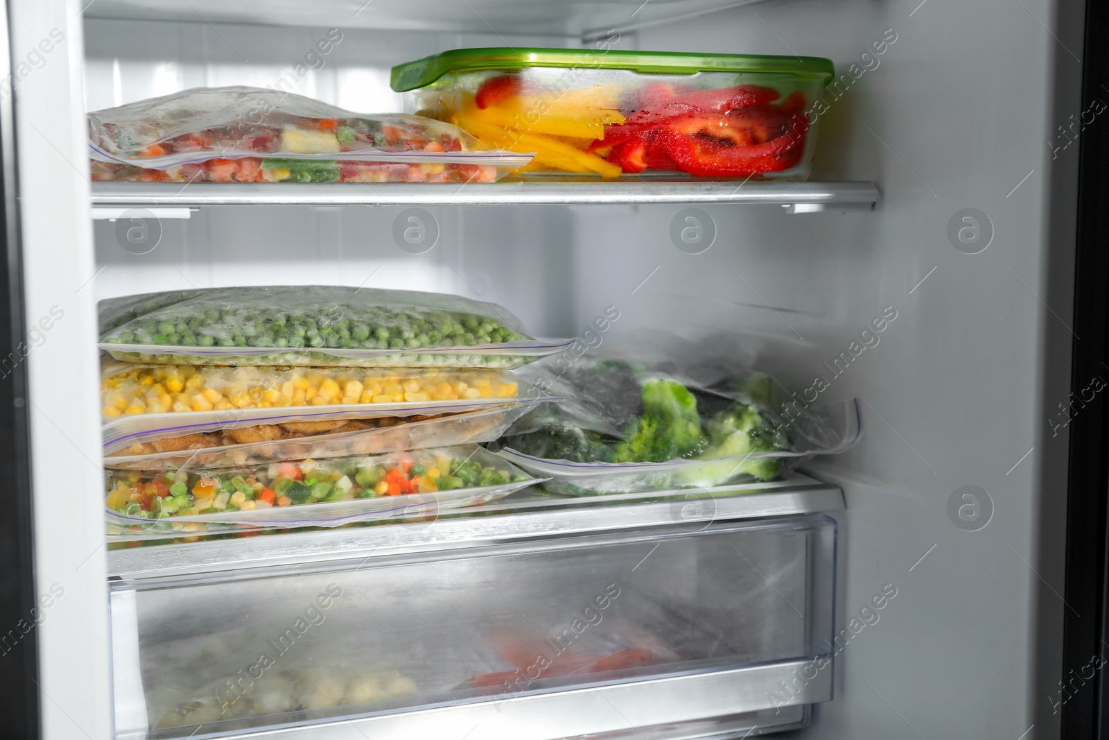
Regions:
M 582 49 L 455 49 L 393 68 L 390 84 L 397 92 L 431 84 L 444 74 L 475 70 L 522 70 L 529 67 L 631 70 L 645 74 L 695 74 L 698 72 L 774 72 L 820 74 L 827 82 L 835 75 L 831 59 L 774 57 L 767 54 L 698 54 L 673 51 L 608 51 Z

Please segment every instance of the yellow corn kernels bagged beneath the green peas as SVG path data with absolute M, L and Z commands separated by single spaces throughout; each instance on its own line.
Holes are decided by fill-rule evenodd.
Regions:
M 105 419 L 236 408 L 511 399 L 518 392 L 509 371 L 485 369 L 113 364 L 101 382 Z M 311 423 L 302 422 L 299 428 L 309 428 L 304 425 Z

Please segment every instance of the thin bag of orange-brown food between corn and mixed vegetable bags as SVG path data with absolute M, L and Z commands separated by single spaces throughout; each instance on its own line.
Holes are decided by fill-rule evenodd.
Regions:
M 431 417 L 279 423 L 163 437 L 108 453 L 104 465 L 115 469 L 176 470 L 184 465 L 257 465 L 492 442 L 535 405 L 521 403 Z

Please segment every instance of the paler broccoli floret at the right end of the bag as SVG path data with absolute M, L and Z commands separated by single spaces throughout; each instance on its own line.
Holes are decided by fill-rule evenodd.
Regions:
M 724 457 L 744 458 L 757 453 L 775 453 L 786 448 L 785 434 L 756 409 L 736 402 L 731 409 L 720 412 L 705 424 L 706 449 L 698 459 Z M 732 476 L 746 473 L 760 480 L 772 480 L 782 472 L 781 457 L 755 457 L 734 463 Z

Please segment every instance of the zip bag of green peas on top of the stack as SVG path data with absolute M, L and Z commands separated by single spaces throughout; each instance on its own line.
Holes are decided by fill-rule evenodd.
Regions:
M 146 294 L 101 318 L 100 347 L 132 363 L 518 367 L 572 342 L 531 338 L 491 303 L 339 285 Z

